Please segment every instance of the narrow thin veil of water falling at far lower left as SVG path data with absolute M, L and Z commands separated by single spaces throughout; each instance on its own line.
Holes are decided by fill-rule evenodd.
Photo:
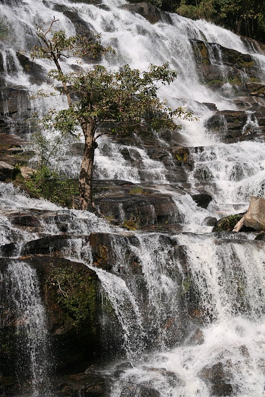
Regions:
M 30 378 L 32 395 L 40 389 L 48 393 L 49 352 L 45 309 L 41 302 L 36 271 L 23 262 L 13 260 L 3 279 L 3 290 L 9 294 L 9 310 L 16 320 L 18 357 L 17 372 Z M 6 322 L 10 321 L 8 315 Z M 15 363 L 14 363 L 15 364 Z

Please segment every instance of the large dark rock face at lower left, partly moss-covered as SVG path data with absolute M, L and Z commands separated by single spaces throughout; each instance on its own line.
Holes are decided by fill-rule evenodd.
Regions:
M 85 370 L 87 367 L 85 363 L 101 353 L 100 310 L 96 298 L 97 276 L 93 270 L 82 263 L 46 255 L 30 255 L 18 259 L 0 258 L 0 315 L 2 319 L 4 318 L 0 324 L 1 375 L 8 376 L 9 367 L 16 366 L 17 360 L 20 360 L 21 355 L 25 353 L 18 352 L 16 348 L 17 338 L 23 336 L 23 324 L 21 323 L 20 331 L 17 332 L 16 325 L 19 322 L 16 318 L 17 312 L 12 310 L 10 294 L 5 293 L 6 286 L 9 286 L 7 273 L 9 263 L 12 266 L 15 263 L 26 263 L 37 272 L 40 295 L 46 309 L 49 343 L 53 349 L 50 353 L 57 362 L 56 369 L 62 371 L 67 368 L 70 371 L 73 368 L 73 371 L 76 371 L 76 368 L 83 367 Z M 58 274 L 61 281 L 60 287 L 56 281 Z M 69 302 L 66 300 L 64 303 L 60 300 L 60 288 L 67 291 Z M 81 321 L 80 316 L 83 316 Z M 6 346 L 8 346 L 7 350 Z M 13 371 L 11 370 L 10 373 Z

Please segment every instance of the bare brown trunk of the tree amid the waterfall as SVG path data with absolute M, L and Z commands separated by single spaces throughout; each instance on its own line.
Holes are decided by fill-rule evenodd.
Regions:
M 94 151 L 97 144 L 94 139 L 95 126 L 91 120 L 82 127 L 85 136 L 85 148 L 79 176 L 80 209 L 92 210 L 92 172 L 94 163 Z

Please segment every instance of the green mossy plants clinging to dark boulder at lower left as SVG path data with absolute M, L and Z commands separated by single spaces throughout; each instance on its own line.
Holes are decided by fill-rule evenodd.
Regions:
M 81 327 L 88 333 L 95 331 L 95 280 L 72 266 L 60 267 L 51 271 L 46 286 L 48 290 L 52 287 L 56 289 L 57 302 L 74 320 L 77 331 L 80 331 Z

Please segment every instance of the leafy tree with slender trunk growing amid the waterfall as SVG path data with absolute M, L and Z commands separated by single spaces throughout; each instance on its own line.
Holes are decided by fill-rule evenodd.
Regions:
M 37 27 L 39 45 L 32 50 L 32 58 L 52 60 L 56 66 L 49 77 L 62 83 L 60 94 L 67 96 L 68 108 L 51 111 L 44 118 L 44 126 L 62 133 L 78 134 L 81 128 L 85 137 L 79 190 L 80 208 L 91 210 L 92 170 L 96 140 L 103 134 L 129 134 L 147 129 L 159 130 L 178 126 L 174 119 L 192 119 L 192 114 L 178 107 L 170 109 L 158 97 L 158 83 L 170 84 L 177 77 L 169 64 L 150 65 L 149 71 L 140 72 L 124 65 L 111 72 L 104 66 L 85 68 L 82 59 L 114 53 L 103 47 L 100 35 L 89 32 L 89 36 L 66 37 L 63 30 L 53 30 L 53 20 L 46 30 Z M 77 70 L 65 73 L 60 60 L 65 57 L 78 58 Z M 41 95 L 46 95 L 41 93 Z

